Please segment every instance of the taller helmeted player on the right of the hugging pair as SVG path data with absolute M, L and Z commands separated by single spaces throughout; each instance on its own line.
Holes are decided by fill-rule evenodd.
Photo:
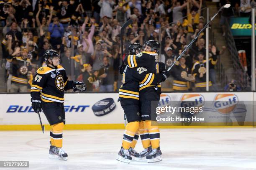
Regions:
M 159 42 L 154 40 L 146 41 L 144 44 L 144 51 L 136 56 L 133 56 L 133 58 L 128 58 L 128 60 L 125 60 L 125 63 L 127 63 L 130 67 L 139 67 L 143 65 L 146 69 L 150 70 L 152 67 L 154 68 L 154 66 L 151 64 L 152 59 L 155 59 L 156 62 L 159 61 L 157 54 L 159 49 Z M 158 66 L 156 65 L 156 68 L 157 67 Z M 164 75 L 166 77 L 168 77 L 169 74 L 170 73 L 168 71 L 164 71 Z M 162 160 L 160 157 L 162 153 L 159 147 L 160 132 L 158 126 L 156 123 L 154 123 L 156 120 L 156 115 L 151 115 L 151 109 L 156 110 L 156 107 L 158 107 L 161 94 L 161 85 L 149 85 L 148 81 L 151 81 L 151 79 L 151 76 L 148 76 L 141 81 L 139 85 L 141 120 L 145 121 L 146 128 L 148 129 L 152 151 L 150 148 L 146 148 L 143 150 L 143 152 L 138 153 L 138 157 L 144 157 L 147 155 L 146 159 L 149 163 Z

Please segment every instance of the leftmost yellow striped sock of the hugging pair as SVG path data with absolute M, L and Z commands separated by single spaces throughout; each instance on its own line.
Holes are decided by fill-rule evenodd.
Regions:
M 122 147 L 125 150 L 128 150 L 131 147 L 131 142 L 133 141 L 135 133 L 138 131 L 138 127 L 139 122 L 130 122 L 126 125 L 122 143 Z

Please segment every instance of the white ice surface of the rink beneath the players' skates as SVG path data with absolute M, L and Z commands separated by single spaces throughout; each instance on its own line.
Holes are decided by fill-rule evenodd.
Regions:
M 117 161 L 122 135 L 123 130 L 64 130 L 69 157 L 61 161 L 48 158 L 49 131 L 2 131 L 0 161 L 29 161 L 23 170 L 256 170 L 255 128 L 161 129 L 163 161 L 151 164 Z M 136 150 L 142 149 L 139 140 Z

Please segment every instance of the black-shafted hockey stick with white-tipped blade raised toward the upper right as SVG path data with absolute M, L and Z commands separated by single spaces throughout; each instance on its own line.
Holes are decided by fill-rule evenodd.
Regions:
M 208 23 L 204 26 L 204 28 L 202 28 L 202 30 L 199 31 L 199 33 L 197 34 L 197 36 L 189 43 L 189 45 L 182 51 L 182 53 L 179 55 L 179 57 L 172 63 L 172 66 L 170 66 L 168 68 L 167 71 L 170 71 L 172 69 L 172 67 L 174 66 L 174 64 L 179 61 L 179 59 L 183 56 L 184 53 L 186 53 L 187 49 L 197 40 L 198 36 L 200 36 L 200 34 L 205 30 L 205 28 L 210 24 L 210 22 L 215 18 L 215 16 L 223 9 L 223 8 L 229 8 L 230 4 L 226 4 L 223 5 L 223 7 L 221 7 L 217 13 L 215 13 L 213 15 L 213 17 L 208 21 Z M 208 48 L 208 47 L 207 47 Z

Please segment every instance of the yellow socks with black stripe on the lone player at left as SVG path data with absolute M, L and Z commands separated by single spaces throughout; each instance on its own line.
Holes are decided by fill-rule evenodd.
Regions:
M 51 125 L 51 132 L 50 132 L 50 137 L 51 137 L 51 145 L 56 146 L 56 147 L 62 147 L 62 131 L 64 128 L 64 123 L 58 123 Z

